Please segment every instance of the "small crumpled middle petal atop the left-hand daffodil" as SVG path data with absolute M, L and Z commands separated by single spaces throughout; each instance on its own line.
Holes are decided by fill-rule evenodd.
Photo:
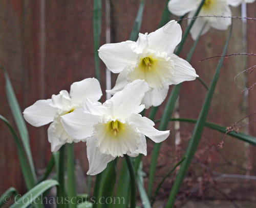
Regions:
M 63 109 L 71 105 L 71 99 L 67 90 L 61 90 L 58 95 L 52 95 L 52 107 Z

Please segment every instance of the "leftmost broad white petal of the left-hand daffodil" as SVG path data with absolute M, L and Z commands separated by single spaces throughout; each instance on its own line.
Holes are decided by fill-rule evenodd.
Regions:
M 23 112 L 24 118 L 33 126 L 42 126 L 53 121 L 57 108 L 50 106 L 51 99 L 37 100 Z

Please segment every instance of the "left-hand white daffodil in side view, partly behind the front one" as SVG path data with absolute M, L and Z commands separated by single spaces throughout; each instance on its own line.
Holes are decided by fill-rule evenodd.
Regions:
M 51 151 L 56 152 L 65 143 L 79 142 L 72 139 L 63 128 L 60 119 L 62 115 L 69 114 L 77 108 L 82 108 L 82 100 L 90 98 L 97 101 L 102 95 L 98 80 L 89 78 L 75 82 L 70 87 L 70 93 L 61 90 L 51 99 L 37 100 L 23 112 L 24 118 L 33 126 L 42 126 L 51 123 L 48 128 L 48 140 Z

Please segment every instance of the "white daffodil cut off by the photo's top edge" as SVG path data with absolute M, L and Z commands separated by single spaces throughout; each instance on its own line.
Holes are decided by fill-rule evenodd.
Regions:
M 229 6 L 237 7 L 245 1 L 247 3 L 253 2 L 252 0 L 205 0 L 203 7 L 201 8 L 198 16 L 231 16 L 231 10 Z M 194 17 L 201 0 L 170 0 L 168 3 L 168 9 L 170 12 L 177 16 L 182 16 L 188 13 L 188 18 Z M 190 23 L 191 19 L 188 19 Z M 206 23 L 207 22 L 207 23 Z M 206 23 L 206 25 L 205 25 Z M 199 17 L 193 24 L 190 30 L 191 37 L 196 40 L 199 36 L 203 26 L 204 30 L 201 35 L 204 35 L 210 27 L 217 30 L 227 30 L 231 24 L 231 18 L 220 17 Z

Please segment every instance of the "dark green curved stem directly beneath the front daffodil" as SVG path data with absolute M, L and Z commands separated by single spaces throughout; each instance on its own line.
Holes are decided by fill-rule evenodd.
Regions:
M 129 172 L 131 177 L 131 208 L 136 207 L 136 177 L 135 177 L 135 171 L 132 163 L 132 159 L 127 155 L 124 154 Z

